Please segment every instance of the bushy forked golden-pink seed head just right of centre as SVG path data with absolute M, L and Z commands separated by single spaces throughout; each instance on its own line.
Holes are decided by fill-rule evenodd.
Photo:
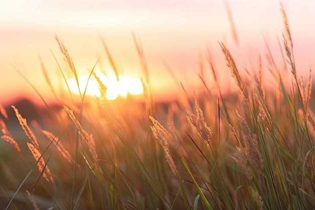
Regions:
M 204 121 L 203 112 L 200 109 L 197 99 L 195 98 L 195 111 L 196 115 L 191 113 L 186 109 L 187 120 L 189 123 L 197 129 L 199 137 L 201 137 L 207 145 L 210 145 L 210 136 L 212 134 L 211 129 L 207 126 L 207 123 Z

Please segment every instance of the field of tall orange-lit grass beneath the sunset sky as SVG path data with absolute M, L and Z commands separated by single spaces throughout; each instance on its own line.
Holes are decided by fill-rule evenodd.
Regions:
M 296 70 L 282 14 L 290 76 L 271 54 L 241 75 L 232 54 L 218 43 L 238 94 L 223 94 L 219 86 L 209 90 L 204 83 L 196 95 L 180 88 L 178 100 L 155 103 L 135 40 L 143 102 L 107 100 L 92 68 L 100 98 L 87 99 L 84 92 L 80 103 L 59 98 L 58 106 L 47 104 L 43 124 L 28 121 L 12 106 L 25 131 L 21 139 L 7 128 L 10 119 L 0 107 L 5 151 L 0 154 L 0 209 L 314 209 L 312 75 L 303 79 Z M 69 66 L 60 70 L 77 77 L 56 39 Z M 216 78 L 217 70 L 209 71 Z M 265 90 L 267 71 L 274 86 Z

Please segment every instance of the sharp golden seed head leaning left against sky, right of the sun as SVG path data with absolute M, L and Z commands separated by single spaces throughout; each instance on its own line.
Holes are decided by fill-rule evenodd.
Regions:
M 234 61 L 233 56 L 231 53 L 228 51 L 228 49 L 224 46 L 222 42 L 219 42 L 219 45 L 221 47 L 221 50 L 224 54 L 225 61 L 226 61 L 226 66 L 229 68 L 231 77 L 234 79 L 235 84 L 240 88 L 241 92 L 243 93 L 243 96 L 246 101 L 249 102 L 249 93 L 247 90 L 247 87 L 245 86 L 242 77 L 240 75 L 239 69 Z

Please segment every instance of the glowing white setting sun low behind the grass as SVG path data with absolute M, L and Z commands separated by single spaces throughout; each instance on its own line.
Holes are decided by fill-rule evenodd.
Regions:
M 101 96 L 99 86 L 94 78 L 90 79 L 86 95 Z M 115 76 L 100 77 L 102 83 L 106 86 L 106 98 L 109 100 L 115 100 L 118 96 L 126 97 L 130 95 L 140 95 L 143 93 L 143 86 L 140 79 L 119 76 L 118 81 Z M 78 77 L 78 84 L 80 86 L 81 93 L 84 92 L 88 82 L 88 77 Z M 72 93 L 80 94 L 77 87 L 75 78 L 71 78 L 67 81 L 69 89 Z

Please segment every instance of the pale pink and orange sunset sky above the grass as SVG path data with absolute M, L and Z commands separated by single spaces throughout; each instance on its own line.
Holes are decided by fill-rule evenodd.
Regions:
M 283 1 L 293 38 L 298 71 L 305 74 L 315 66 L 315 3 Z M 58 50 L 55 34 L 73 58 L 80 76 L 88 76 L 104 51 L 100 37 L 108 45 L 122 76 L 140 78 L 141 67 L 132 33 L 141 40 L 150 71 L 154 93 L 159 97 L 176 93 L 174 81 L 165 62 L 188 89 L 198 88 L 200 54 L 209 49 L 220 72 L 222 85 L 228 69 L 217 41 L 223 41 L 240 69 L 258 65 L 266 55 L 264 37 L 279 66 L 283 66 L 278 40 L 284 31 L 278 1 L 228 1 L 239 44 L 235 44 L 222 0 L 129 1 L 129 0 L 57 0 L 1 1 L 0 3 L 0 103 L 8 104 L 18 96 L 30 95 L 39 100 L 14 65 L 44 95 L 49 89 L 44 80 L 38 55 L 42 57 L 55 82 L 58 81 L 56 55 L 61 67 L 66 64 Z M 265 59 L 266 61 L 266 59 Z M 111 70 L 105 55 L 101 63 Z M 207 67 L 207 66 L 206 66 Z M 101 67 L 97 71 L 101 72 Z M 103 69 L 103 70 L 104 70 Z M 211 86 L 208 68 L 205 80 Z M 66 73 L 68 78 L 72 75 Z M 233 88 L 231 82 L 228 88 Z

